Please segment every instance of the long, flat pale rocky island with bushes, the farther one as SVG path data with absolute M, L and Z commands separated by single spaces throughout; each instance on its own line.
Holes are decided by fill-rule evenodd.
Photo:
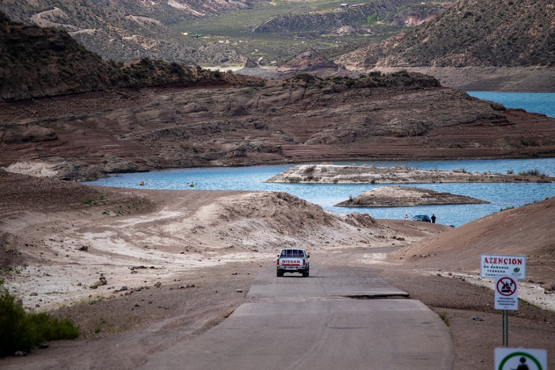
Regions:
M 464 168 L 445 171 L 405 166 L 377 167 L 338 166 L 335 164 L 304 164 L 276 174 L 266 182 L 321 184 L 401 184 L 442 182 L 553 182 L 555 177 L 537 169 L 517 174 L 469 173 Z

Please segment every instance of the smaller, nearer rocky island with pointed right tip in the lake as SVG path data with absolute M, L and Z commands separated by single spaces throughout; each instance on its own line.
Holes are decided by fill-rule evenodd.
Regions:
M 350 197 L 336 207 L 410 207 L 428 204 L 485 204 L 481 199 L 458 194 L 436 192 L 412 186 L 384 186 L 356 197 Z

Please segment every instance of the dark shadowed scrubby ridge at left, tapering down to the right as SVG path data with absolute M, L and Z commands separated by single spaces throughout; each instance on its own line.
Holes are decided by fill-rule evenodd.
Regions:
M 67 32 L 14 23 L 0 12 L 0 101 L 114 87 L 227 84 L 236 78 L 149 58 L 127 64 L 106 62 Z

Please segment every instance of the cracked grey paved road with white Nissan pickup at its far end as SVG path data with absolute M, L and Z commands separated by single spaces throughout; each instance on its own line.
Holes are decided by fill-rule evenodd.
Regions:
M 375 270 L 311 266 L 310 274 L 264 269 L 252 303 L 142 369 L 451 369 L 445 323 Z

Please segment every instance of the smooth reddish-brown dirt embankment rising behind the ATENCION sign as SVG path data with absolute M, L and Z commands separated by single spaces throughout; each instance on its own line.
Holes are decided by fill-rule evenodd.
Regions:
M 407 266 L 479 272 L 480 254 L 526 256 L 527 277 L 555 282 L 555 197 L 506 209 L 432 236 L 391 255 Z M 551 289 L 550 289 L 551 290 Z

